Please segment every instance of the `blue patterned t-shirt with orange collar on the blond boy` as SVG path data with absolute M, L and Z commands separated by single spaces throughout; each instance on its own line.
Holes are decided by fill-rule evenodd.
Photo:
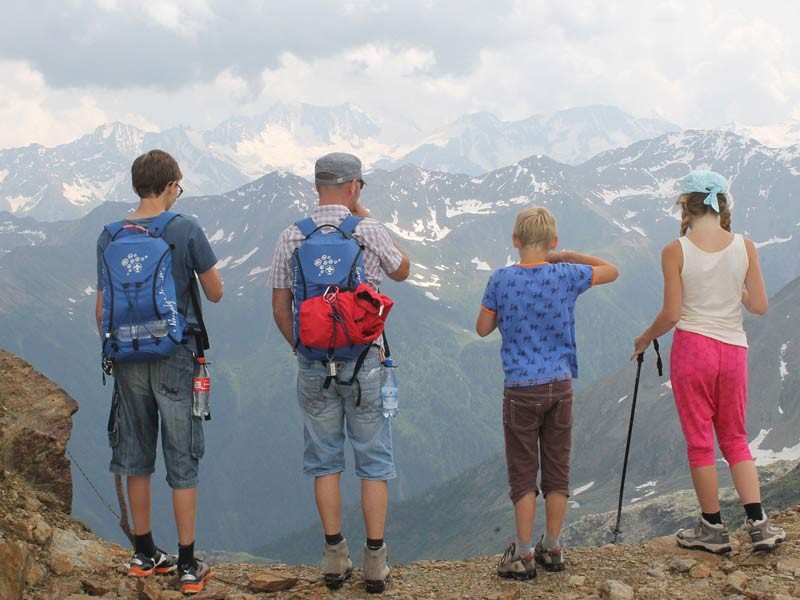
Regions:
M 505 387 L 578 376 L 575 301 L 593 278 L 592 267 L 573 263 L 512 265 L 492 273 L 481 304 L 497 315 Z

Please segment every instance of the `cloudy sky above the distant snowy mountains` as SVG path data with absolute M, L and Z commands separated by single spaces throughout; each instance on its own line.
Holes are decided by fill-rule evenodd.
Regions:
M 797 0 L 3 3 L 0 147 L 352 102 L 387 135 L 587 104 L 686 127 L 800 119 Z M 411 133 L 410 133 L 411 132 Z

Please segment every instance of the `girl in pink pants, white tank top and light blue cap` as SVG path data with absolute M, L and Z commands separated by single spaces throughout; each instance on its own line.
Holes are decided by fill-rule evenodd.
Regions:
M 714 434 L 744 505 L 754 551 L 786 539 L 761 507 L 761 490 L 747 443 L 747 336 L 742 305 L 767 310 L 755 244 L 731 233 L 728 182 L 713 171 L 692 171 L 682 182 L 681 237 L 662 252 L 664 306 L 634 340 L 633 359 L 676 327 L 670 380 L 681 421 L 701 515 L 694 529 L 676 534 L 678 545 L 730 552 L 719 508 Z

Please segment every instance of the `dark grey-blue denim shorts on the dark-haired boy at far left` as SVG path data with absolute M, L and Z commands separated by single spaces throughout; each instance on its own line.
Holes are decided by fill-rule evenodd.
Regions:
M 114 396 L 108 418 L 111 472 L 150 475 L 155 471 L 159 417 L 167 483 L 197 486 L 203 457 L 203 421 L 192 416 L 194 357 L 180 347 L 156 361 L 114 365 Z

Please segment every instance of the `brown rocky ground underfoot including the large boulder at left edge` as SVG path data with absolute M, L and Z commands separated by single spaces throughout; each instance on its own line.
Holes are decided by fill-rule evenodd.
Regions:
M 0 350 L 0 600 L 128 598 L 177 600 L 174 576 L 129 578 L 130 550 L 92 534 L 68 514 L 64 458 L 74 401 Z M 680 550 L 672 537 L 639 544 L 568 549 L 567 570 L 515 582 L 495 575 L 499 556 L 393 565 L 384 594 L 408 599 L 800 598 L 800 506 L 773 515 L 787 530 L 775 552 L 753 554 L 733 534 L 726 557 Z M 498 552 L 502 550 L 498 548 Z M 391 558 L 391 541 L 389 546 Z M 321 551 L 320 551 L 321 558 Z M 329 592 L 318 566 L 224 563 L 198 600 L 366 598 L 356 570 Z

